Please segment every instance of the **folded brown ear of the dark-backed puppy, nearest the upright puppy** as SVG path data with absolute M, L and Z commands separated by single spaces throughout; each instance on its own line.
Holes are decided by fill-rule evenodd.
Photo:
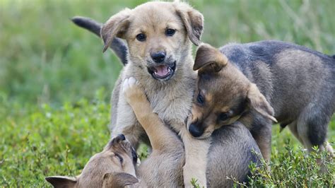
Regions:
M 204 71 L 218 72 L 227 64 L 228 58 L 218 49 L 208 44 L 202 44 L 196 50 L 193 70 L 202 69 Z

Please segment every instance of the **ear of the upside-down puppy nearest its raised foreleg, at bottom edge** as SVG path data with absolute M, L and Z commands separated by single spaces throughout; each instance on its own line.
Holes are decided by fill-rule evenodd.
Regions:
M 124 172 L 112 172 L 103 176 L 102 187 L 123 188 L 126 185 L 135 184 L 137 182 L 139 182 L 139 180 L 133 175 Z

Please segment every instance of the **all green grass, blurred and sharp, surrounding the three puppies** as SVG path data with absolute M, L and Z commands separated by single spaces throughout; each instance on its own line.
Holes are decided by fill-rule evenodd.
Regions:
M 0 0 L 0 187 L 42 187 L 47 175 L 78 175 L 107 143 L 108 100 L 122 66 L 111 52 L 102 54 L 98 37 L 69 18 L 104 22 L 142 2 Z M 276 39 L 335 54 L 332 0 L 190 3 L 204 13 L 202 40 L 216 47 Z M 334 117 L 329 140 L 335 142 Z M 302 158 L 305 153 L 288 130 L 278 134 L 274 126 L 272 143 L 272 162 L 279 164 L 273 175 L 285 172 L 280 163 L 293 167 L 287 180 L 310 175 L 296 167 L 313 158 Z M 286 159 L 288 151 L 293 160 Z M 334 175 L 334 163 L 331 169 Z M 313 180 L 322 178 L 311 173 Z

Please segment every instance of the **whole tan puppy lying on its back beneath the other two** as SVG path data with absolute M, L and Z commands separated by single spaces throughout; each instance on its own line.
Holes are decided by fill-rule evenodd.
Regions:
M 124 136 L 117 136 L 102 153 L 93 156 L 77 178 L 47 177 L 54 187 L 182 187 L 184 148 L 180 138 L 151 109 L 143 89 L 134 78 L 123 83 L 123 93 L 145 129 L 152 153 L 136 169 L 136 154 Z M 259 163 L 259 148 L 239 122 L 214 131 L 206 170 L 208 187 L 232 187 L 234 178 L 247 182 L 249 164 Z

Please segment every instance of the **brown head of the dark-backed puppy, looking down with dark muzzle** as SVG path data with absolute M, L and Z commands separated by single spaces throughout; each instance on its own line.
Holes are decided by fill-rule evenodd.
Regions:
M 218 49 L 201 45 L 194 70 L 198 70 L 198 78 L 192 117 L 187 124 L 192 136 L 207 138 L 215 129 L 232 124 L 249 110 L 275 120 L 273 108 L 257 86 Z

